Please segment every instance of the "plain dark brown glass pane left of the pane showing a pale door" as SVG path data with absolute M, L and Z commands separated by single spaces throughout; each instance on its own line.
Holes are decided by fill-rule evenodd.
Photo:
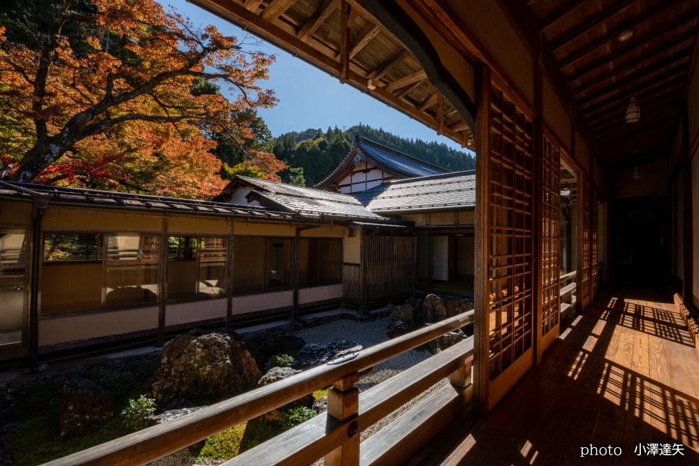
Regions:
M 264 291 L 264 238 L 236 236 L 233 265 L 233 294 Z

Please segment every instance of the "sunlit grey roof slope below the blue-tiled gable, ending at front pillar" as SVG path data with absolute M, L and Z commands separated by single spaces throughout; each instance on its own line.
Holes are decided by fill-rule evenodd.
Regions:
M 475 206 L 475 170 L 384 182 L 354 197 L 372 212 Z

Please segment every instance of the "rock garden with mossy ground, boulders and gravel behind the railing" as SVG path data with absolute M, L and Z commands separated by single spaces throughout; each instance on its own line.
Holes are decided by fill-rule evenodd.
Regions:
M 0 466 L 45 463 L 167 423 L 470 309 L 473 303 L 468 301 L 430 295 L 371 317 L 346 314 L 336 321 L 310 322 L 293 333 L 277 329 L 246 338 L 225 330 L 192 330 L 145 356 L 0 385 Z M 356 386 L 366 390 L 464 337 L 466 333 L 456 330 L 421 351 L 385 361 L 362 374 Z M 319 390 L 154 464 L 222 463 L 323 412 L 325 395 L 326 390 Z M 362 432 L 362 437 L 384 424 Z

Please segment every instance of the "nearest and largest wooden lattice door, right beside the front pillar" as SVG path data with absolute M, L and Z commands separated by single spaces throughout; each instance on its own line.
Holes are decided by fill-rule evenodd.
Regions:
M 488 166 L 488 376 L 495 405 L 533 361 L 533 123 L 493 87 Z

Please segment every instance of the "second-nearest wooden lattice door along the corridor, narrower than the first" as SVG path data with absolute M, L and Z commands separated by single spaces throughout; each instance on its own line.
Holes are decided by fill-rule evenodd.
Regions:
M 539 354 L 559 337 L 561 320 L 561 150 L 544 137 L 541 191 L 541 302 Z

